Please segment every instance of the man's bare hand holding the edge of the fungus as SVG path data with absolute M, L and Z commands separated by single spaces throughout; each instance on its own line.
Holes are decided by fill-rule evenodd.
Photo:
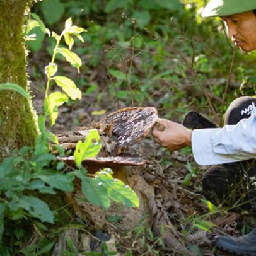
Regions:
M 166 119 L 157 119 L 153 128 L 154 140 L 161 146 L 175 151 L 185 146 L 191 146 L 192 131 L 182 124 Z

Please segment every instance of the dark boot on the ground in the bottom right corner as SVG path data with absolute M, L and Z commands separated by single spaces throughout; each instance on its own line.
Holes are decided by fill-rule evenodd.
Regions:
M 240 237 L 215 236 L 212 244 L 224 252 L 241 256 L 256 256 L 256 229 Z

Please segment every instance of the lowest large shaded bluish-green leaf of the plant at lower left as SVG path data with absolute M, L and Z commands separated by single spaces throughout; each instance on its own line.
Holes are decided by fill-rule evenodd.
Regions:
M 54 214 L 50 211 L 48 204 L 37 197 L 20 197 L 9 202 L 9 208 L 14 211 L 20 208 L 25 209 L 31 216 L 39 218 L 41 221 L 54 223 Z

